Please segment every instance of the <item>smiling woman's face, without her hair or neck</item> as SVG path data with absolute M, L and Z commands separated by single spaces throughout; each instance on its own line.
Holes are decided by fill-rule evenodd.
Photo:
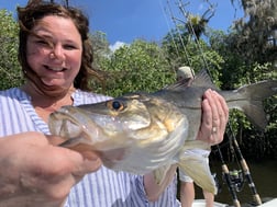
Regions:
M 32 30 L 26 42 L 26 60 L 36 78 L 49 89 L 73 85 L 81 66 L 81 37 L 70 19 L 48 15 Z M 51 44 L 49 44 L 51 43 Z

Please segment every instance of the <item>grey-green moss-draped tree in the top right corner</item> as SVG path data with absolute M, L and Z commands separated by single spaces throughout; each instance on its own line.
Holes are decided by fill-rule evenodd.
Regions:
M 277 61 L 277 3 L 272 0 L 241 0 L 244 18 L 234 22 L 230 47 L 244 60 L 259 64 Z

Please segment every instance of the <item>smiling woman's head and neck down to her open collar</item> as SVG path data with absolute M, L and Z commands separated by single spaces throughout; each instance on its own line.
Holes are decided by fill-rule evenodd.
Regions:
M 49 15 L 46 10 L 53 7 L 44 4 L 45 11 L 34 12 L 34 22 L 30 21 L 29 15 L 23 16 L 26 10 L 19 10 L 20 50 L 25 50 L 20 53 L 20 60 L 27 78 L 21 89 L 32 96 L 36 113 L 45 122 L 49 113 L 60 105 L 73 104 L 74 81 L 80 72 L 87 71 L 82 64 L 82 53 L 86 51 L 82 41 L 88 41 L 88 37 L 81 36 L 84 32 L 79 31 L 86 28 L 88 23 L 82 24 L 84 28 L 80 25 L 77 27 L 78 19 L 69 18 L 76 14 L 60 8 L 60 11 L 55 8 Z

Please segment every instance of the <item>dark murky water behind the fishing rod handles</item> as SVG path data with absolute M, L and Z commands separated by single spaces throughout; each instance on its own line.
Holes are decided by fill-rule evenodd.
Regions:
M 256 186 L 257 193 L 262 200 L 277 197 L 277 160 L 273 161 L 262 161 L 262 162 L 247 162 L 250 172 L 254 184 Z M 230 171 L 240 166 L 237 164 L 228 164 Z M 228 185 L 223 183 L 221 174 L 221 163 L 212 163 L 213 172 L 217 172 L 219 183 L 221 185 L 221 192 L 215 196 L 215 200 L 224 204 L 232 205 L 232 196 L 229 192 Z M 197 198 L 202 198 L 201 189 L 197 187 Z M 245 180 L 243 188 L 241 192 L 236 192 L 236 196 L 241 204 L 253 202 L 252 191 L 248 187 L 248 183 Z

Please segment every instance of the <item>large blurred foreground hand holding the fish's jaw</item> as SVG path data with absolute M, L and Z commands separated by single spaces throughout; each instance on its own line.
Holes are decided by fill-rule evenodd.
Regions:
M 62 206 L 70 188 L 100 168 L 96 154 L 89 158 L 51 145 L 40 133 L 0 138 L 0 206 Z

